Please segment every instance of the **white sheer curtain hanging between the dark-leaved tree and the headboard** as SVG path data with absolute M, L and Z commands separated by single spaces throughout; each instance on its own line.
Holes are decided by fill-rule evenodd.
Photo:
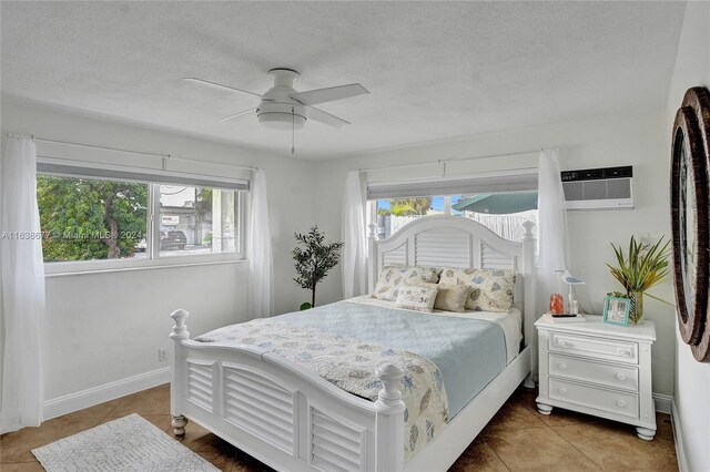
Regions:
M 359 172 L 347 173 L 343 199 L 343 297 L 351 298 L 367 291 L 367 235 L 365 234 L 365 201 Z

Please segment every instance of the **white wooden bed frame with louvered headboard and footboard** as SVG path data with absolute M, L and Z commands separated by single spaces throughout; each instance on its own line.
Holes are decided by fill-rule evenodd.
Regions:
M 371 291 L 384 265 L 515 268 L 515 299 L 524 301 L 525 348 L 437 433 L 404 462 L 403 372 L 383 365 L 378 400 L 371 402 L 271 353 L 190 339 L 189 314 L 174 311 L 171 382 L 172 425 L 184 434 L 187 419 L 265 464 L 283 471 L 444 471 L 526 378 L 537 352 L 532 223 L 523 243 L 501 239 L 457 216 L 428 216 L 378 242 L 371 227 Z M 529 307 L 529 308 L 528 308 Z M 525 309 L 528 308 L 528 309 Z M 531 383 L 530 383 L 531 386 Z

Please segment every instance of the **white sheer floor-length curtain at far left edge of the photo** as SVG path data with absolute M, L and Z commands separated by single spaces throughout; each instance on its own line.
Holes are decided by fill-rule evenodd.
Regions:
M 2 156 L 2 420 L 0 432 L 42 421 L 40 324 L 44 263 L 37 207 L 37 150 L 30 137 L 9 136 Z

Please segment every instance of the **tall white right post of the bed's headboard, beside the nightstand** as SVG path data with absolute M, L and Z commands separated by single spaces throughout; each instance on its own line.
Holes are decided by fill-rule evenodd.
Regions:
M 530 347 L 530 374 L 525 379 L 524 384 L 535 388 L 537 381 L 537 332 L 535 321 L 537 320 L 536 307 L 536 284 L 535 284 L 535 250 L 536 240 L 532 229 L 535 223 L 523 223 L 523 276 L 525 278 L 525 312 L 523 314 L 523 332 L 525 335 L 525 346 Z

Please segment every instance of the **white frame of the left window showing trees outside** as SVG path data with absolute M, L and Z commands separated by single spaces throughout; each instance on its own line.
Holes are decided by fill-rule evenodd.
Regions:
M 100 167 L 98 167 L 99 170 Z M 99 171 L 98 171 L 99 172 Z M 37 175 L 54 175 L 71 177 L 65 174 L 53 174 L 49 172 L 38 171 Z M 204 176 L 189 175 L 185 177 L 193 177 L 197 181 L 203 181 Z M 92 177 L 90 175 L 79 175 L 74 178 L 87 179 L 106 179 L 104 177 Z M 115 178 L 109 178 L 118 181 Z M 91 274 L 91 273 L 106 273 L 106 271 L 124 271 L 124 270 L 139 270 L 139 269 L 156 269 L 168 267 L 192 266 L 192 265 L 207 265 L 207 264 L 226 264 L 246 261 L 246 201 L 248 198 L 247 191 L 233 189 L 234 197 L 237 199 L 235 203 L 235 217 L 237 219 L 237 244 L 234 253 L 212 253 L 212 254 L 191 254 L 180 256 L 163 256 L 160 257 L 160 186 L 171 185 L 170 179 L 166 182 L 141 182 L 148 186 L 148 209 L 146 209 L 146 233 L 145 233 L 145 258 L 120 258 L 120 259 L 92 259 L 92 260 L 65 260 L 65 261 L 45 261 L 44 274 L 47 276 L 60 276 L 72 274 Z M 189 184 L 181 184 L 189 185 Z M 195 184 L 195 186 L 202 186 Z M 205 187 L 220 189 L 220 187 Z

